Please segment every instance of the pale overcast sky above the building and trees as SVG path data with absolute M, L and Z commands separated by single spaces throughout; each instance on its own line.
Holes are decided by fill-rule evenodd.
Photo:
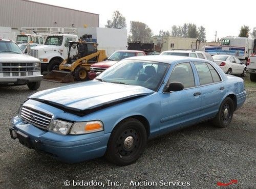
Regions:
M 256 27 L 255 0 L 245 2 L 234 0 L 33 1 L 99 14 L 100 27 L 104 27 L 106 20 L 111 19 L 113 12 L 118 10 L 126 18 L 128 32 L 130 21 L 146 23 L 154 35 L 158 35 L 159 30 L 170 31 L 172 25 L 191 22 L 197 26 L 204 26 L 208 42 L 215 40 L 215 31 L 217 31 L 217 38 L 222 38 L 238 36 L 242 25 L 248 25 L 251 32 L 253 27 Z

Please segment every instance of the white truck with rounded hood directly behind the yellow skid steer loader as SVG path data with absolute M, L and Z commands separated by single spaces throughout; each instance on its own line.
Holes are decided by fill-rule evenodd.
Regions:
M 52 34 L 46 38 L 45 45 L 31 47 L 30 56 L 38 58 L 41 71 L 58 69 L 59 64 L 68 58 L 70 41 L 78 41 L 78 36 L 73 34 Z M 76 55 L 76 52 L 72 52 Z

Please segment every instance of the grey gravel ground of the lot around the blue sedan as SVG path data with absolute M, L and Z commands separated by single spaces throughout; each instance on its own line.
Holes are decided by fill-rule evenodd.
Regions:
M 103 157 L 64 164 L 12 140 L 11 118 L 17 114 L 19 104 L 34 92 L 26 86 L 0 88 L 0 188 L 65 188 L 66 180 L 71 185 L 73 180 L 74 184 L 93 180 L 102 182 L 105 188 L 136 187 L 130 186 L 132 181 L 157 184 L 137 188 L 174 188 L 173 183 L 161 186 L 162 181 L 167 185 L 176 181 L 190 184 L 175 188 L 215 188 L 219 187 L 217 182 L 232 179 L 238 183 L 227 188 L 256 188 L 256 83 L 249 82 L 247 76 L 245 84 L 247 100 L 227 128 L 205 122 L 171 132 L 149 141 L 142 157 L 126 167 L 112 165 Z M 39 90 L 62 85 L 43 81 Z M 121 185 L 108 186 L 108 180 Z

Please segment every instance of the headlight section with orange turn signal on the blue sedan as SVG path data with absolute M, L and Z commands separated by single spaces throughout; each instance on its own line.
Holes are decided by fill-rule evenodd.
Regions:
M 86 134 L 104 130 L 101 121 L 76 122 L 70 130 L 70 134 Z

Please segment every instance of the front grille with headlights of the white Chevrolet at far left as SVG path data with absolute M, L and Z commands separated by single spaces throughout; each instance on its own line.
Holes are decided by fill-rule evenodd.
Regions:
M 4 77 L 31 76 L 33 72 L 39 70 L 40 67 L 35 67 L 35 63 L 33 62 L 0 63 L 0 73 L 3 73 Z

